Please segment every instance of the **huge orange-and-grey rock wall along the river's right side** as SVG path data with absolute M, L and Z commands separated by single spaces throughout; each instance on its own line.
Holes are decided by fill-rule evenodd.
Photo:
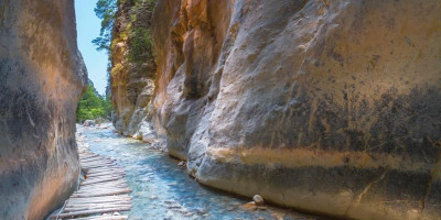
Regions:
M 160 0 L 153 122 L 202 184 L 441 218 L 441 2 Z

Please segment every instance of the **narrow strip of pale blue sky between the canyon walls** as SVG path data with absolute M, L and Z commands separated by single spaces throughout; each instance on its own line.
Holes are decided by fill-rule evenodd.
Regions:
M 97 0 L 75 0 L 76 30 L 78 32 L 78 47 L 83 54 L 89 73 L 89 79 L 100 95 L 107 86 L 107 54 L 97 52 L 92 40 L 99 35 L 101 21 L 95 15 L 94 8 Z

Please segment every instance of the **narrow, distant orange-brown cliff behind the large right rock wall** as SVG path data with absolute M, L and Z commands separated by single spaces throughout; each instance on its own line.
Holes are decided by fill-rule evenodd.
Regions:
M 147 121 L 150 121 L 155 65 L 149 47 L 136 55 L 130 50 L 149 36 L 153 3 L 139 2 L 118 2 L 111 42 L 111 95 L 116 107 L 112 121 L 125 135 L 146 140 L 152 132 Z

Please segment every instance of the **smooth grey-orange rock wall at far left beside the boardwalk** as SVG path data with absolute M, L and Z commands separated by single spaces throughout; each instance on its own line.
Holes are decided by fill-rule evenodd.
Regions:
M 74 190 L 86 80 L 73 0 L 0 1 L 0 219 L 43 219 Z

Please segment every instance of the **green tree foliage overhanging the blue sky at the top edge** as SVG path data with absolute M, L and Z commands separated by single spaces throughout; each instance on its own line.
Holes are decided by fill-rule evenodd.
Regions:
M 114 28 L 117 9 L 117 0 L 98 0 L 94 9 L 95 14 L 101 20 L 99 36 L 92 41 L 97 51 L 110 50 L 111 30 Z

